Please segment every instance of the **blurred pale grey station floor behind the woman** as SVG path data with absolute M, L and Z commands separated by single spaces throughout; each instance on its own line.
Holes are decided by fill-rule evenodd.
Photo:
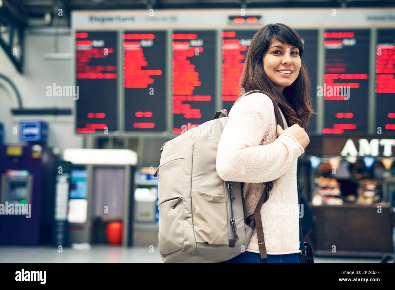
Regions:
M 0 262 L 17 263 L 163 263 L 157 247 L 93 245 L 88 249 L 46 246 L 0 246 Z M 315 263 L 379 263 L 377 258 L 314 257 Z

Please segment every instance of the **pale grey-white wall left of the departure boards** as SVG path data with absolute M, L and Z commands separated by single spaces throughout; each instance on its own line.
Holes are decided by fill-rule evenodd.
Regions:
M 73 85 L 73 60 L 45 60 L 43 54 L 54 52 L 53 35 L 37 34 L 26 31 L 24 48 L 23 74 L 20 74 L 2 48 L 0 48 L 0 73 L 10 78 L 17 86 L 24 108 L 71 108 L 68 116 L 16 116 L 11 108 L 18 108 L 17 98 L 13 89 L 0 79 L 0 122 L 4 125 L 4 143 L 17 143 L 19 136 L 12 134 L 16 126 L 19 131 L 21 119 L 41 119 L 48 122 L 48 144 L 58 147 L 62 152 L 65 148 L 82 148 L 83 137 L 74 132 L 73 97 L 47 97 L 46 87 L 53 83 L 60 86 Z M 71 52 L 70 35 L 59 36 L 59 52 Z M 19 133 L 19 132 L 18 132 Z

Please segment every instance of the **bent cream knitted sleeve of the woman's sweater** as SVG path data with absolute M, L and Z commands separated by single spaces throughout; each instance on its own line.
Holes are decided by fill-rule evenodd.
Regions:
M 216 170 L 220 178 L 251 183 L 276 180 L 303 154 L 305 150 L 289 133 L 260 145 L 267 130 L 273 126 L 276 130 L 272 116 L 273 102 L 263 93 L 247 95 L 233 106 L 218 144 Z

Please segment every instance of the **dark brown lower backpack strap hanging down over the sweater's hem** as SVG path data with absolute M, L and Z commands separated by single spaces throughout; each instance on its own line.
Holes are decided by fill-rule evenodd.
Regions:
M 261 259 L 267 258 L 265 236 L 263 234 L 262 226 L 261 207 L 262 204 L 265 203 L 269 198 L 269 191 L 271 191 L 272 186 L 273 181 L 265 182 L 265 189 L 263 190 L 262 196 L 258 202 L 258 205 L 255 208 L 254 213 L 247 217 L 247 222 L 249 223 L 249 226 L 252 229 L 254 229 L 254 227 L 256 226 L 256 234 L 258 236 L 258 247 Z

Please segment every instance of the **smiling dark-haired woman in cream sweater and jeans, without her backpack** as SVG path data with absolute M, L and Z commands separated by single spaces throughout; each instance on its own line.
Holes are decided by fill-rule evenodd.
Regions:
M 254 213 L 263 182 L 274 182 L 260 210 L 267 258 L 260 258 L 255 228 L 245 251 L 229 262 L 299 262 L 299 212 L 284 208 L 298 206 L 297 158 L 310 142 L 306 127 L 314 113 L 302 54 L 299 34 L 281 23 L 261 28 L 248 48 L 239 86 L 266 94 L 246 95 L 231 109 L 216 169 L 223 180 L 244 182 L 246 217 Z M 286 130 L 276 125 L 268 95 L 278 103 Z

